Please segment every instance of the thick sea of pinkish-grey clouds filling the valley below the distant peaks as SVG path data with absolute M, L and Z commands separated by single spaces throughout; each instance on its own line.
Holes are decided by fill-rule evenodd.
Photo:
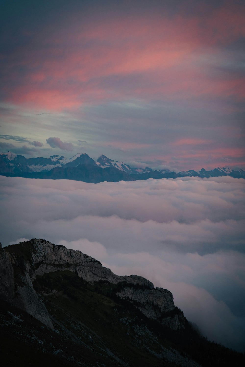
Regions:
M 210 340 L 245 350 L 245 180 L 97 184 L 0 176 L 1 242 L 43 238 L 169 289 Z

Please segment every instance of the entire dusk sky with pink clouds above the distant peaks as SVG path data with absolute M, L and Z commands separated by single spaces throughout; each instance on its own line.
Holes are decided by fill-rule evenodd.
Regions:
M 244 1 L 0 6 L 3 152 L 245 168 Z

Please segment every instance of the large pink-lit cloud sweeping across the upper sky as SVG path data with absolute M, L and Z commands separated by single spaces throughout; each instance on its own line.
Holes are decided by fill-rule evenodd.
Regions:
M 219 80 L 198 57 L 219 57 L 217 44 L 245 35 L 243 10 L 239 4 L 226 2 L 212 8 L 209 15 L 205 15 L 204 6 L 204 15 L 177 14 L 172 19 L 153 13 L 116 18 L 108 14 L 104 21 L 85 20 L 83 27 L 72 22 L 61 34 L 49 25 L 43 30 L 42 43 L 44 48 L 52 45 L 48 55 L 23 48 L 18 56 L 20 65 L 29 69 L 25 76 L 18 75 L 14 60 L 6 66 L 6 99 L 50 110 L 132 97 L 188 99 L 205 95 L 241 100 L 245 80 Z M 140 83 L 122 87 L 114 80 L 133 73 L 143 74 Z M 12 78 L 21 78 L 21 84 L 11 86 Z M 112 83 L 105 83 L 104 78 L 112 78 Z

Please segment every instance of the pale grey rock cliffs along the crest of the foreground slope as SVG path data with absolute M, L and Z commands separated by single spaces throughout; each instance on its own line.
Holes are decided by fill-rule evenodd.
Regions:
M 118 276 L 80 251 L 56 246 L 42 239 L 32 239 L 0 250 L 0 298 L 52 328 L 46 306 L 32 283 L 37 276 L 58 270 L 69 270 L 90 284 L 98 281 L 118 284 L 116 296 L 131 302 L 149 319 L 161 317 L 161 323 L 173 330 L 184 327 L 183 314 L 174 313 L 170 291 L 154 288 L 149 280 L 141 276 Z M 167 314 L 169 312 L 171 315 Z

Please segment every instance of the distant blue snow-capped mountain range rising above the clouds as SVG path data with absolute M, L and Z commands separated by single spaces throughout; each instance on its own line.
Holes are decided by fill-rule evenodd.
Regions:
M 132 168 L 122 161 L 114 161 L 105 155 L 97 160 L 86 153 L 78 153 L 70 159 L 64 156 L 53 155 L 49 158 L 25 158 L 12 152 L 0 153 L 0 175 L 18 176 L 27 178 L 73 179 L 84 182 L 101 181 L 136 181 L 148 178 L 177 178 L 177 177 L 219 177 L 231 176 L 245 178 L 244 170 L 217 167 L 199 172 L 194 170 L 176 173 L 170 170 L 152 170 L 145 167 Z

